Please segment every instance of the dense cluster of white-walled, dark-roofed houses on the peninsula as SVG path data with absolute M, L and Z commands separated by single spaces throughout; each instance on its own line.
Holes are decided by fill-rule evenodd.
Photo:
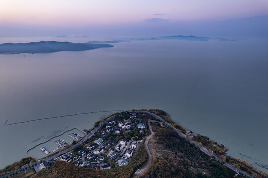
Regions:
M 129 118 L 112 120 L 100 131 L 101 136 L 87 146 L 87 150 L 78 151 L 76 157 L 68 154 L 63 155 L 60 160 L 66 162 L 74 161 L 76 166 L 88 167 L 92 169 L 110 169 L 108 159 L 111 159 L 115 166 L 122 166 L 128 163 L 133 156 L 135 149 L 142 140 L 132 140 L 124 138 L 124 132 L 131 132 L 138 128 L 139 133 L 144 133 L 145 125 L 137 118 L 137 114 L 132 112 Z M 121 116 L 122 117 L 122 116 Z M 137 132 L 137 129 L 136 129 Z M 105 135 L 109 135 L 108 139 Z M 123 137 L 118 141 L 112 141 L 110 137 Z M 114 140 L 114 139 L 113 139 Z

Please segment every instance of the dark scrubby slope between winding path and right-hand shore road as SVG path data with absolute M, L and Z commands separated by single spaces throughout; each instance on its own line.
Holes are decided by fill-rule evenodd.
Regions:
M 153 160 L 145 178 L 232 178 L 235 175 L 176 132 L 158 123 L 151 126 L 155 132 L 149 141 Z

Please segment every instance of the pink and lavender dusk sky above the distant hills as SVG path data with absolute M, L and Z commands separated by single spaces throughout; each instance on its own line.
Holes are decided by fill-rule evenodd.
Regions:
M 267 16 L 268 0 L 0 0 L 0 37 L 267 35 Z

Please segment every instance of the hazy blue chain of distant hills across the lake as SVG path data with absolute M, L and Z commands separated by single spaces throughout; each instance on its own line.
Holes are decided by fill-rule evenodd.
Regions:
M 58 36 L 66 37 L 66 36 Z M 146 41 L 146 40 L 186 40 L 186 41 L 236 41 L 224 38 L 209 38 L 209 37 L 196 37 L 196 36 L 164 36 L 158 38 L 129 38 L 129 39 L 118 39 L 110 41 L 89 41 L 87 43 L 70 43 L 70 42 L 55 42 L 55 41 L 41 41 L 31 43 L 5 43 L 0 45 L 0 54 L 13 54 L 13 53 L 46 53 L 46 52 L 57 52 L 57 51 L 82 51 L 97 49 L 101 47 L 113 47 L 113 45 L 103 43 L 120 43 L 130 41 Z

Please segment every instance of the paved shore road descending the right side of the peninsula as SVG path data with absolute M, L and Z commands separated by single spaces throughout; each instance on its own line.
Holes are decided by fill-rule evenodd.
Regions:
M 181 132 L 179 132 L 177 129 L 175 129 L 173 126 L 171 126 L 169 123 L 165 122 L 161 117 L 159 117 L 158 115 L 155 115 L 154 113 L 151 113 L 151 112 L 148 112 L 148 111 L 136 111 L 136 112 L 141 112 L 141 113 L 146 113 L 146 114 L 149 114 L 159 120 L 161 120 L 161 122 L 164 124 L 164 125 L 167 125 L 167 126 L 170 126 L 170 128 L 175 131 L 177 134 L 179 134 L 181 137 L 187 139 L 190 143 L 194 144 L 196 147 L 198 147 L 202 152 L 204 152 L 205 154 L 209 155 L 210 157 L 214 156 L 215 160 L 217 161 L 220 161 L 220 162 L 223 162 L 223 160 L 219 159 L 217 156 L 215 156 L 213 153 L 209 152 L 206 148 L 200 146 L 199 144 L 197 144 L 196 142 L 194 142 L 193 140 L 191 140 L 190 138 L 188 138 L 185 134 L 182 134 Z M 234 172 L 236 173 L 240 173 L 240 174 L 244 174 L 246 175 L 247 177 L 249 178 L 253 178 L 252 176 L 249 176 L 248 174 L 240 171 L 239 169 L 233 167 L 232 165 L 228 164 L 228 163 L 225 163 L 223 164 L 224 166 L 226 166 L 227 168 L 233 170 Z

